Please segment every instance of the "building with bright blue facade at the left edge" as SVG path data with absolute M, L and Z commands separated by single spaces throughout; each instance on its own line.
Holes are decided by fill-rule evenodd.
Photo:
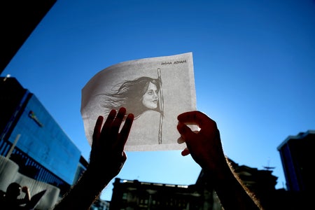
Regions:
M 62 196 L 85 171 L 87 161 L 16 78 L 0 77 L 0 102 L 0 155 L 15 162 L 20 174 L 59 188 Z M 0 190 L 5 188 L 0 183 Z

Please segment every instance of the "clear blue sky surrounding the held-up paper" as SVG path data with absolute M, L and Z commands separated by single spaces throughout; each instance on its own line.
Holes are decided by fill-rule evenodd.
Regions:
M 216 120 L 225 154 L 276 167 L 283 188 L 277 146 L 315 130 L 313 0 L 57 0 L 1 76 L 36 94 L 88 160 L 80 116 L 87 81 L 119 62 L 184 52 L 193 52 L 197 109 Z M 121 179 L 189 185 L 200 174 L 181 151 L 127 157 Z

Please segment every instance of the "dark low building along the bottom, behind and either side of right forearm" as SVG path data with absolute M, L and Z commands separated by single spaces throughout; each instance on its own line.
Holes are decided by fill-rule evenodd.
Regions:
M 272 171 L 239 166 L 232 160 L 230 164 L 244 186 L 251 190 L 262 204 L 269 206 L 269 195 L 275 194 L 278 179 L 272 175 Z M 218 210 L 222 209 L 222 206 L 207 175 L 201 171 L 196 183 L 190 186 L 116 178 L 109 209 Z

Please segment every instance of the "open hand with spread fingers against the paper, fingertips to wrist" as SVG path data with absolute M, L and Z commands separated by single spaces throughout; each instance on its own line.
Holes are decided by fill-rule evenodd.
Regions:
M 118 175 L 125 160 L 127 160 L 124 147 L 132 127 L 134 115 L 132 113 L 127 115 L 125 124 L 119 132 L 125 114 L 125 108 L 120 108 L 117 116 L 116 110 L 111 110 L 104 126 L 102 127 L 104 118 L 99 116 L 94 127 L 89 170 L 95 172 L 95 175 L 99 179 L 103 179 L 104 182 Z

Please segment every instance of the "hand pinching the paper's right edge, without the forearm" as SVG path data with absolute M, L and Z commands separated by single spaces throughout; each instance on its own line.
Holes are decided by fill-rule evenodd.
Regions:
M 181 152 L 183 156 L 191 154 L 202 168 L 211 170 L 215 170 L 223 162 L 226 164 L 220 132 L 214 120 L 200 111 L 182 113 L 177 119 L 177 130 L 187 145 Z M 187 125 L 197 125 L 200 130 L 192 131 Z

